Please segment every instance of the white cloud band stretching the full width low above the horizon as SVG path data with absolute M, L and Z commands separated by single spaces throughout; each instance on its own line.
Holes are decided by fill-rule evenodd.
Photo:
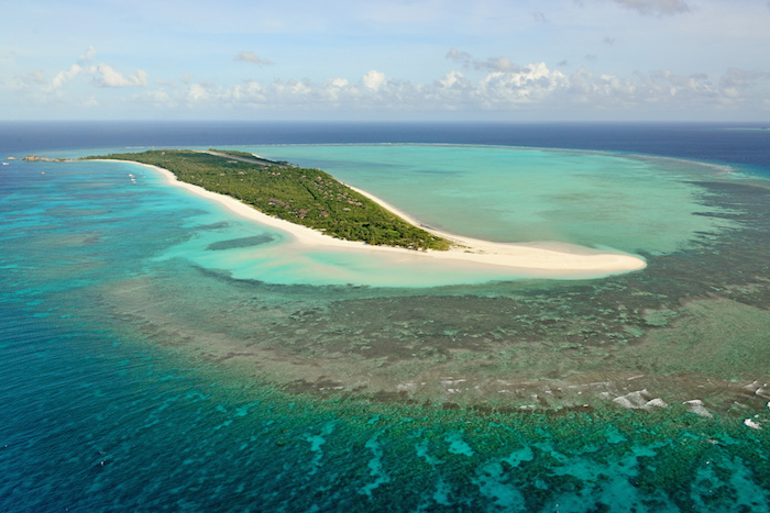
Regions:
M 476 58 L 450 48 L 446 62 L 452 67 L 428 81 L 411 81 L 371 69 L 358 79 L 332 77 L 324 80 L 243 80 L 235 85 L 184 77 L 151 83 L 142 69 L 119 71 L 105 63 L 94 64 L 92 47 L 69 68 L 48 80 L 41 71 L 18 77 L 18 91 L 38 104 L 61 102 L 99 107 L 98 93 L 76 97 L 70 82 L 81 81 L 99 89 L 140 88 L 143 92 L 111 97 L 110 107 L 131 112 L 205 112 L 220 118 L 249 112 L 323 113 L 360 116 L 371 113 L 484 113 L 516 116 L 536 113 L 546 118 L 602 112 L 615 116 L 645 118 L 648 112 L 735 111 L 743 105 L 770 110 L 767 90 L 770 73 L 729 68 L 721 76 L 678 75 L 671 70 L 617 76 L 580 68 L 564 73 L 547 63 L 515 64 L 508 57 Z M 242 52 L 243 60 L 264 64 L 255 54 Z M 87 80 L 82 82 L 82 78 Z M 107 107 L 102 104 L 102 108 Z M 507 114 L 506 114 L 507 113 Z M 619 114 L 618 114 L 619 113 Z

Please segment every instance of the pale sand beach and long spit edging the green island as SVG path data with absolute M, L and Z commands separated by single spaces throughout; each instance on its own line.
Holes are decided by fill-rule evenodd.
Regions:
M 133 160 L 99 159 L 101 161 L 131 163 L 160 172 L 167 183 L 180 187 L 196 196 L 216 201 L 234 214 L 287 233 L 294 242 L 318 249 L 328 247 L 338 250 L 376 252 L 398 257 L 424 258 L 447 264 L 472 264 L 482 267 L 508 268 L 521 276 L 539 278 L 598 278 L 608 275 L 630 272 L 647 267 L 640 258 L 623 253 L 603 253 L 596 249 L 560 243 L 493 243 L 454 234 L 443 233 L 415 221 L 380 198 L 355 187 L 345 186 L 378 203 L 404 221 L 450 241 L 448 250 L 414 250 L 394 246 L 375 246 L 364 242 L 345 241 L 324 235 L 314 228 L 267 215 L 232 197 L 212 192 L 202 187 L 177 179 L 167 169 Z M 97 161 L 99 161 L 97 160 Z M 548 246 L 548 247 L 546 247 Z

